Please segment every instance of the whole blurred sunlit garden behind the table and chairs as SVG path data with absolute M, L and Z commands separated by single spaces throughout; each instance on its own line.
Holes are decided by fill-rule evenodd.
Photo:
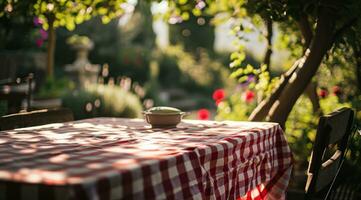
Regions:
M 190 119 L 278 122 L 297 179 L 321 115 L 347 106 L 361 117 L 361 3 L 320 2 L 4 0 L 0 79 L 33 74 L 31 108 L 76 119 L 162 105 Z M 360 139 L 350 147 L 359 171 Z

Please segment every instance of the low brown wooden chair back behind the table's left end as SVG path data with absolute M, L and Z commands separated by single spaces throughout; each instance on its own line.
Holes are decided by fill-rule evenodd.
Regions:
M 73 120 L 73 112 L 67 108 L 35 110 L 0 117 L 0 130 L 10 130 Z

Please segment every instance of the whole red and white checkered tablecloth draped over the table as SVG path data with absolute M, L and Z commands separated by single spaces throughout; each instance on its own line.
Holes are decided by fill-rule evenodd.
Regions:
M 0 199 L 282 199 L 275 123 L 94 118 L 0 132 Z

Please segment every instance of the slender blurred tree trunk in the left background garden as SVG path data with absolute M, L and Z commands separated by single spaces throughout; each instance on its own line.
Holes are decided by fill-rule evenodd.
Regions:
M 54 29 L 54 19 L 49 17 L 49 38 L 48 38 L 48 47 L 47 47 L 47 57 L 46 57 L 46 74 L 48 78 L 53 78 L 54 76 L 54 52 L 55 52 L 55 29 Z

